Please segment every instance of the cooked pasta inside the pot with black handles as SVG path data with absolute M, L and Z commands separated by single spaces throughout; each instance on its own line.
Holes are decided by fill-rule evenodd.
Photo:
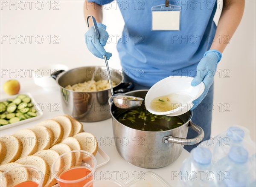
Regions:
M 116 86 L 116 83 L 112 81 L 112 85 Z M 66 89 L 70 89 L 77 92 L 96 92 L 102 91 L 105 89 L 110 89 L 108 80 L 99 80 L 99 81 L 85 81 L 84 83 L 76 83 L 67 85 Z

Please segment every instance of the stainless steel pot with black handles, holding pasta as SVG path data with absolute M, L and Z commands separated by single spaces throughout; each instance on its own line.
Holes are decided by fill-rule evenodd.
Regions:
M 120 72 L 111 70 L 111 78 L 117 85 L 114 93 L 131 91 L 134 85 L 130 82 L 123 82 Z M 97 92 L 76 92 L 65 87 L 84 81 L 90 81 L 94 76 L 95 81 L 108 80 L 107 69 L 101 66 L 79 67 L 52 73 L 57 81 L 61 92 L 61 103 L 66 114 L 72 115 L 79 121 L 94 122 L 111 118 L 108 98 L 111 96 L 110 89 Z

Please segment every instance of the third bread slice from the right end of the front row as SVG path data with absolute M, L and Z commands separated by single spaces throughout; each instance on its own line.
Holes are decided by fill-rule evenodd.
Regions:
M 51 147 L 50 150 L 55 150 L 60 155 L 62 155 L 65 152 L 72 151 L 72 149 L 67 144 L 62 143 L 54 145 L 53 147 Z M 65 166 L 67 166 L 67 168 L 73 167 L 76 163 L 76 156 L 73 152 L 67 153 L 67 155 L 63 159 Z

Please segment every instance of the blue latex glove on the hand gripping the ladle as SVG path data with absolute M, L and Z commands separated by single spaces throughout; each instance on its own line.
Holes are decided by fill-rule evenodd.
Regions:
M 96 32 L 94 30 L 94 26 L 90 27 L 88 31 L 84 34 L 85 43 L 89 51 L 98 58 L 103 58 L 106 55 L 107 59 L 112 56 L 110 52 L 106 52 L 104 46 L 108 40 L 108 32 L 106 31 L 106 26 L 102 23 L 97 23 L 99 28 L 100 38 L 96 37 Z

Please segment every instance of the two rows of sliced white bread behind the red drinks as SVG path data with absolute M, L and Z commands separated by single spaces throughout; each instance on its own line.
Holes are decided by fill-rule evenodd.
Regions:
M 57 183 L 51 167 L 59 155 L 72 150 L 85 150 L 96 155 L 96 138 L 83 132 L 83 125 L 69 115 L 56 116 L 35 124 L 29 129 L 22 129 L 13 135 L 0 138 L 0 175 L 20 164 L 32 164 L 44 173 L 43 186 L 51 187 Z M 70 167 L 81 163 L 81 155 L 70 153 L 69 159 L 60 163 Z M 22 168 L 21 168 L 22 169 Z M 2 178 L 2 177 L 1 177 Z M 1 187 L 8 181 L 1 182 Z

